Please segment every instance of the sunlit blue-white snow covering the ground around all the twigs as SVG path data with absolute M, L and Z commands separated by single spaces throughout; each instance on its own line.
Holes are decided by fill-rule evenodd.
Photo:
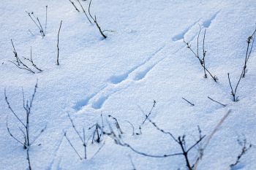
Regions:
M 74 0 L 78 9 L 78 1 Z M 89 1 L 81 1 L 89 7 Z M 45 26 L 45 6 L 48 5 L 46 36 L 42 39 L 37 26 L 29 18 L 34 12 Z M 34 139 L 47 125 L 37 141 L 30 147 L 32 169 L 187 169 L 183 155 L 150 158 L 115 144 L 110 136 L 103 136 L 97 144 L 89 142 L 87 160 L 80 161 L 72 144 L 83 155 L 83 145 L 70 123 L 70 114 L 78 131 L 89 138 L 91 125 L 108 123 L 115 127 L 116 117 L 121 139 L 136 150 L 151 155 L 181 152 L 170 136 L 157 131 L 148 120 L 141 126 L 142 134 L 135 133 L 150 112 L 149 119 L 159 128 L 174 136 L 186 134 L 187 146 L 195 144 L 200 125 L 203 139 L 191 152 L 194 162 L 197 147 L 207 142 L 222 117 L 231 110 L 224 123 L 211 138 L 197 169 L 230 169 L 241 152 L 237 139 L 246 139 L 252 147 L 234 169 L 256 169 L 256 51 L 247 64 L 246 77 L 238 86 L 239 101 L 233 102 L 227 72 L 236 85 L 244 66 L 246 39 L 255 30 L 256 1 L 207 0 L 93 0 L 91 13 L 106 31 L 102 39 L 95 24 L 90 24 L 83 12 L 77 12 L 68 0 L 13 0 L 1 1 L 0 6 L 0 169 L 28 169 L 26 150 L 7 131 L 23 141 L 19 127 L 4 99 L 4 88 L 12 109 L 25 122 L 22 88 L 31 98 L 34 85 L 38 89 L 30 116 L 30 137 Z M 81 9 L 80 9 L 81 10 Z M 59 34 L 59 62 L 56 65 L 57 35 Z M 202 53 L 203 31 L 207 28 L 205 48 L 206 67 L 217 75 L 214 82 L 186 47 L 184 39 L 197 48 L 200 36 Z M 31 33 L 29 32 L 31 31 Z M 34 63 L 43 72 L 32 74 L 18 69 L 13 63 L 12 39 L 15 50 L 29 58 L 30 47 Z M 208 99 L 208 96 L 227 104 L 226 107 Z M 192 107 L 186 98 L 193 104 Z M 129 123 L 127 122 L 129 121 Z M 102 147 L 102 144 L 104 146 Z M 99 148 L 102 149 L 94 156 Z M 93 158 L 92 158 L 93 157 Z

